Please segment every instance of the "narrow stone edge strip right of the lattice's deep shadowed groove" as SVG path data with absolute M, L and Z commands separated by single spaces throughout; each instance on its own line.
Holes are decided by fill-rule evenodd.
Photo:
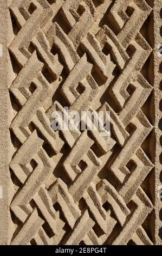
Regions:
M 155 219 L 154 219 L 154 243 L 162 244 L 162 171 L 161 171 L 161 130 L 162 119 L 160 101 L 162 99 L 162 54 L 158 54 L 159 44 L 162 44 L 162 0 L 154 0 L 154 127 L 155 127 Z M 162 52 L 161 52 L 162 53 Z M 161 88 L 160 88 L 161 87 Z

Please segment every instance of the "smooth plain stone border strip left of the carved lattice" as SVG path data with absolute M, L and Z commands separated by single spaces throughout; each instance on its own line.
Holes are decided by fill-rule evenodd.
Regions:
M 9 243 L 9 92 L 7 82 L 7 2 L 0 1 L 0 244 Z

